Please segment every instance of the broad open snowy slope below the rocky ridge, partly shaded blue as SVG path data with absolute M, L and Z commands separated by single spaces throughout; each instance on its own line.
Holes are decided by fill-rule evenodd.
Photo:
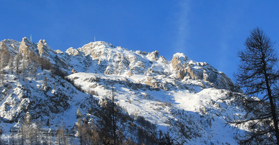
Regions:
M 200 92 L 188 89 L 158 90 L 149 85 L 135 85 L 138 81 L 135 78 L 126 80 L 120 76 L 89 73 L 76 73 L 69 77 L 75 78 L 75 84 L 87 90 L 94 90 L 99 96 L 105 96 L 110 92 L 105 86 L 110 86 L 114 82 L 117 103 L 126 108 L 128 114 L 140 115 L 156 123 L 161 130 L 169 128 L 174 133 L 179 133 L 179 123 L 185 124 L 189 132 L 188 138 L 183 139 L 181 134 L 175 135 L 177 140 L 182 138 L 179 142 L 236 144 L 233 139 L 236 130 L 226 126 L 224 117 L 243 112 L 234 104 L 232 92 L 228 90 L 215 88 L 202 89 Z M 91 81 L 96 78 L 97 83 Z M 195 86 L 190 90 L 194 89 Z

